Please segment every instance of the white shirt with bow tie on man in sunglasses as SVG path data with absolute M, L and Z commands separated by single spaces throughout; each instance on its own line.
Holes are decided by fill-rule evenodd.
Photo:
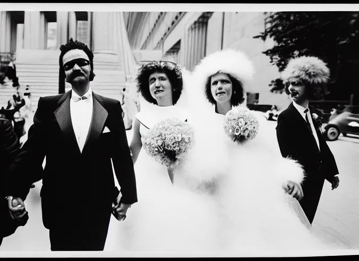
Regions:
M 87 97 L 87 99 L 82 99 L 83 97 Z M 76 98 L 80 100 L 75 101 L 74 99 Z M 81 97 L 72 90 L 70 100 L 71 122 L 81 153 L 89 133 L 92 111 L 93 98 L 91 86 L 89 87 L 89 90 Z

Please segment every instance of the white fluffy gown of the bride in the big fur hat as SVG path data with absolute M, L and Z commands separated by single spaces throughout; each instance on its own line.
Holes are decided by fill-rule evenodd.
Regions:
M 196 190 L 209 180 L 215 184 L 220 251 L 329 249 L 312 234 L 299 203 L 282 188 L 287 180 L 300 182 L 302 169 L 275 151 L 264 120 L 259 118 L 253 140 L 238 145 L 226 136 L 223 119 L 214 112 L 192 115 L 196 143 L 176 172 L 185 181 L 183 187 Z

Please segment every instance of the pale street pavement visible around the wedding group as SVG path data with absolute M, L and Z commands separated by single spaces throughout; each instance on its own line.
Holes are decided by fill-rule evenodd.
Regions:
M 265 131 L 268 139 L 273 146 L 278 146 L 276 122 L 267 123 Z M 126 131 L 126 134 L 131 142 L 132 130 Z M 312 232 L 337 249 L 359 250 L 359 137 L 340 136 L 337 141 L 327 143 L 340 171 L 340 185 L 338 189 L 331 190 L 329 182 L 325 182 Z M 19 227 L 15 234 L 3 240 L 0 256 L 2 251 L 50 250 L 48 230 L 43 227 L 41 219 L 41 184 L 41 180 L 37 182 L 25 200 L 30 217 L 27 225 Z

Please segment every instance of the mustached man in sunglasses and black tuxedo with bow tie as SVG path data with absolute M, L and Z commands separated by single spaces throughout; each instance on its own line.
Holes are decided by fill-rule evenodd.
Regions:
M 102 251 L 117 197 L 111 159 L 122 195 L 118 214 L 137 202 L 122 109 L 91 90 L 93 53 L 86 44 L 71 38 L 60 50 L 60 75 L 72 90 L 39 99 L 29 138 L 10 167 L 9 208 L 12 199 L 23 204 L 32 170 L 46 156 L 40 196 L 51 250 Z

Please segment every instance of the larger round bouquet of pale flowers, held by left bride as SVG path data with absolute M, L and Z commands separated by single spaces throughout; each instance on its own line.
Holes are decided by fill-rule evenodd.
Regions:
M 143 139 L 143 148 L 162 165 L 172 167 L 193 145 L 194 130 L 179 119 L 166 119 L 153 126 Z

